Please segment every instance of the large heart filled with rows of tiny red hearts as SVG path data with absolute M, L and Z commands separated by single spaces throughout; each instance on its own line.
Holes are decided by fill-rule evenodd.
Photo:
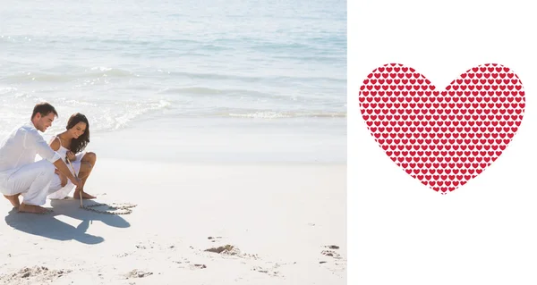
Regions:
M 422 74 L 389 63 L 360 88 L 371 135 L 397 165 L 446 194 L 490 166 L 524 116 L 522 82 L 505 66 L 483 64 L 436 90 Z

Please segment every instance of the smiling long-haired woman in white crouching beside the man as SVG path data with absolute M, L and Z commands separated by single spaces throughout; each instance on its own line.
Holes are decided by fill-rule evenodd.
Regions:
M 86 180 L 88 180 L 97 160 L 97 155 L 84 151 L 88 143 L 90 143 L 90 122 L 88 122 L 85 115 L 74 113 L 69 118 L 65 129 L 64 132 L 52 138 L 49 145 L 62 156 L 62 159 L 70 169 L 74 168 L 75 172 L 73 174 L 78 175 L 82 180 L 81 192 L 75 189 L 72 197 L 79 198 L 80 194 L 82 194 L 82 198 L 84 199 L 95 198 L 83 190 Z M 72 168 L 66 159 L 71 161 Z M 49 193 L 51 194 L 48 195 L 48 198 L 63 199 L 69 195 L 74 188 L 74 184 L 57 169 L 55 173 L 55 178 L 50 184 Z

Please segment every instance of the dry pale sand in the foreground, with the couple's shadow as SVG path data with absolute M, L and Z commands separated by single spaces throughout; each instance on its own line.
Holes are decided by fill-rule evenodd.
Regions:
M 345 185 L 345 163 L 99 159 L 86 203 L 136 204 L 132 214 L 73 199 L 19 214 L 0 200 L 0 283 L 345 284 Z M 204 251 L 226 245 L 235 255 Z

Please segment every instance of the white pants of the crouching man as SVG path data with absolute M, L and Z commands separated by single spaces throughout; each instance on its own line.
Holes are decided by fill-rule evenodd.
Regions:
M 0 191 L 7 196 L 21 193 L 26 205 L 45 205 L 54 171 L 54 164 L 45 159 L 23 165 L 7 177 L 2 175 Z

